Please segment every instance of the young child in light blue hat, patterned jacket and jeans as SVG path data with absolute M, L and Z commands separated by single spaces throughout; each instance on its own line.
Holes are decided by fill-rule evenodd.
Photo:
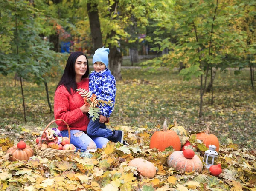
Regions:
M 120 130 L 111 131 L 105 125 L 108 117 L 113 111 L 116 97 L 116 79 L 108 69 L 109 48 L 99 48 L 93 55 L 93 68 L 89 75 L 89 91 L 97 96 L 97 99 L 111 102 L 111 105 L 100 105 L 99 119 L 90 122 L 87 134 L 90 137 L 105 137 L 113 142 L 123 143 L 124 132 Z

